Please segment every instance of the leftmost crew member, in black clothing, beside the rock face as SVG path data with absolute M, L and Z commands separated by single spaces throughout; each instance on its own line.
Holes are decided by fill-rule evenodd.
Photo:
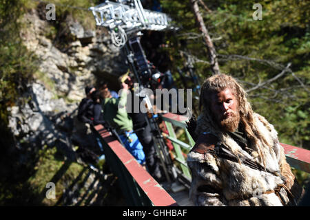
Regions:
M 92 86 L 85 87 L 86 98 L 83 98 L 83 100 L 81 100 L 77 115 L 77 118 L 80 122 L 88 123 L 90 125 L 93 125 L 92 119 L 94 118 L 94 102 L 92 101 L 91 97 L 94 91 L 96 91 L 96 89 Z

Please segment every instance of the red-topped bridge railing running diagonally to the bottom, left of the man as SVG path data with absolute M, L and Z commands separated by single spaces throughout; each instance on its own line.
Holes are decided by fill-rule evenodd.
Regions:
M 136 159 L 101 124 L 94 126 L 103 145 L 105 159 L 129 206 L 178 206 L 176 201 L 147 173 Z

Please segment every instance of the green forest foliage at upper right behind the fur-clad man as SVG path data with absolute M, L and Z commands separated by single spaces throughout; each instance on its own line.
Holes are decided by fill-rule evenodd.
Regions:
M 189 1 L 161 1 L 165 12 L 182 27 L 172 34 L 167 51 L 176 67 L 183 67 L 180 50 L 196 56 L 196 74 L 211 75 L 207 48 Z M 309 3 L 306 1 L 260 1 L 262 20 L 254 21 L 253 2 L 205 1 L 212 11 L 200 7 L 206 28 L 214 39 L 221 72 L 240 80 L 246 89 L 280 74 L 291 63 L 291 71 L 266 87 L 249 92 L 254 111 L 265 116 L 278 131 L 280 142 L 310 149 L 309 144 Z M 190 36 L 196 36 L 189 38 Z M 196 34 L 196 35 L 194 35 Z M 185 43 L 180 43 L 185 41 Z M 238 55 L 238 56 L 231 56 Z M 243 57 L 243 58 L 242 58 Z M 255 58 L 256 60 L 251 60 Z M 177 74 L 174 74 L 177 75 Z M 178 81 L 178 77 L 175 76 Z M 178 81 L 179 82 L 179 81 Z M 193 85 L 194 86 L 194 85 Z

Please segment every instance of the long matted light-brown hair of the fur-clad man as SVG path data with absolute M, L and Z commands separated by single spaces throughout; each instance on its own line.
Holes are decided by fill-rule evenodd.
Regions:
M 225 89 L 231 89 L 231 93 L 235 96 L 238 101 L 238 111 L 240 113 L 240 126 L 245 131 L 247 138 L 250 141 L 250 147 L 258 152 L 260 160 L 265 165 L 265 159 L 262 155 L 262 148 L 264 145 L 269 148 L 269 144 L 265 139 L 264 135 L 259 131 L 258 126 L 254 120 L 254 111 L 251 108 L 251 104 L 247 101 L 247 93 L 241 87 L 237 81 L 226 74 L 216 74 L 205 80 L 201 87 L 199 109 L 201 114 L 198 118 L 196 134 L 200 135 L 203 132 L 204 124 L 209 124 L 211 130 L 222 133 L 223 129 L 220 128 L 216 117 L 210 109 L 211 94 L 218 93 Z M 199 122 L 200 120 L 200 122 Z M 207 122 L 207 123 L 206 123 Z M 258 144 L 258 140 L 262 142 L 263 146 Z

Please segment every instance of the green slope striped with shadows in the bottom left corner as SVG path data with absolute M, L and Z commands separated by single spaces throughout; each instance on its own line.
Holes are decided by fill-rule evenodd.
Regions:
M 82 184 L 87 176 L 85 168 L 68 162 L 63 155 L 56 147 L 44 146 L 36 153 L 37 159 L 31 158 L 25 168 L 18 168 L 19 173 L 11 168 L 14 177 L 0 181 L 0 205 L 54 206 L 72 183 L 79 186 L 79 194 L 83 195 L 87 190 Z M 34 161 L 37 162 L 33 164 Z M 8 168 L 8 165 L 2 167 Z M 46 184 L 51 181 L 55 184 L 55 199 L 45 197 Z

